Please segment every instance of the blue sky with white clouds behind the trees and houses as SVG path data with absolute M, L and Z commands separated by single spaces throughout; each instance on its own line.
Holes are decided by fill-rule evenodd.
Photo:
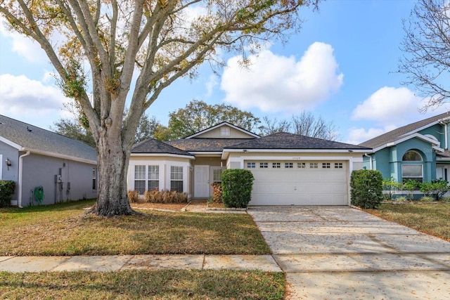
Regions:
M 228 103 L 257 117 L 288 119 L 307 110 L 333 122 L 340 141 L 361 143 L 398 126 L 444 112 L 418 112 L 423 100 L 402 86 L 397 71 L 404 37 L 402 20 L 414 1 L 328 0 L 318 12 L 300 11 L 302 30 L 287 44 L 274 42 L 252 57 L 249 70 L 236 53 L 215 76 L 200 67 L 198 78 L 179 79 L 147 114 L 167 124 L 169 112 L 193 99 Z M 37 44 L 0 30 L 0 114 L 49 129 L 70 116 Z

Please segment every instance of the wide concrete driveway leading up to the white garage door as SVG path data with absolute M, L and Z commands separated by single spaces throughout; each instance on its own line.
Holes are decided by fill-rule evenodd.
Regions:
M 450 242 L 351 207 L 250 207 L 286 299 L 450 299 Z

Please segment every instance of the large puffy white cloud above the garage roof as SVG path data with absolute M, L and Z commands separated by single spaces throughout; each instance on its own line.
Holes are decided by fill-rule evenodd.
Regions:
M 250 56 L 248 68 L 240 57 L 230 58 L 221 79 L 225 101 L 243 109 L 264 112 L 300 112 L 327 100 L 342 85 L 333 48 L 311 44 L 300 61 L 277 56 L 269 50 Z

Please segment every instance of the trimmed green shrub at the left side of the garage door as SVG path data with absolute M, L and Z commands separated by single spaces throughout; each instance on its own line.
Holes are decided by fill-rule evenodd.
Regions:
M 222 172 L 222 199 L 225 207 L 247 207 L 252 199 L 255 178 L 249 170 L 228 169 Z

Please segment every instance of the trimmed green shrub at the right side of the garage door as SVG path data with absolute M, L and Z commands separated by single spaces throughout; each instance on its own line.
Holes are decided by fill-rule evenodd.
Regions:
M 383 176 L 376 170 L 355 170 L 350 178 L 352 204 L 364 209 L 375 209 L 383 200 Z

